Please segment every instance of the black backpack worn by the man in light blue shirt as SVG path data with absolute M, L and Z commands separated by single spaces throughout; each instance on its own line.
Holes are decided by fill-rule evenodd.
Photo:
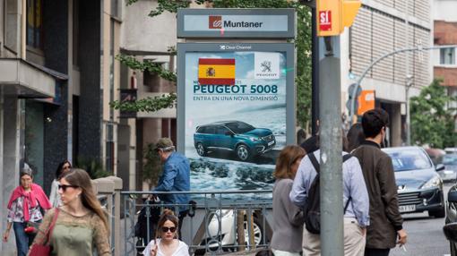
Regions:
M 315 180 L 311 183 L 309 187 L 307 203 L 305 209 L 305 226 L 306 230 L 309 233 L 319 235 L 321 233 L 321 193 L 320 193 L 320 167 L 319 162 L 315 158 L 315 154 L 310 153 L 307 155 L 311 160 L 311 164 L 315 167 L 317 175 L 315 175 Z M 343 163 L 346 162 L 352 155 L 347 154 L 343 156 Z M 344 213 L 348 209 L 349 201 L 351 200 L 350 196 L 344 207 Z

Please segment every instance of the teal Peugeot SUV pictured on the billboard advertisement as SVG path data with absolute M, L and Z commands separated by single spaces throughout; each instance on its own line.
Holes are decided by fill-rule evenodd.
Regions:
M 200 125 L 194 133 L 194 146 L 200 156 L 213 150 L 229 150 L 241 161 L 271 150 L 276 145 L 272 130 L 255 128 L 241 121 L 220 121 Z

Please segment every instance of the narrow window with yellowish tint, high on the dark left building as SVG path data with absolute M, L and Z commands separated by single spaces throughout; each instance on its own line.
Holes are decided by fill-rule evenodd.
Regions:
M 43 48 L 42 0 L 27 0 L 27 46 Z

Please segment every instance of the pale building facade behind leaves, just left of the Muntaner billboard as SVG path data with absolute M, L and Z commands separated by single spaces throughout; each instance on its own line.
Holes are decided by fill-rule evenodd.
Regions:
M 162 65 L 166 70 L 176 72 L 176 55 L 173 48 L 177 46 L 177 17 L 176 13 L 164 12 L 155 17 L 148 14 L 158 6 L 157 1 L 138 1 L 125 8 L 121 53 L 134 55 L 139 61 L 149 61 Z M 136 89 L 137 98 L 154 98 L 177 92 L 175 82 L 160 78 L 156 73 L 148 71 L 133 71 L 123 66 L 121 89 Z M 128 121 L 127 121 L 128 120 Z M 136 133 L 136 176 L 130 178 L 134 190 L 149 190 L 150 184 L 143 182 L 142 170 L 145 164 L 144 149 L 148 144 L 156 142 L 161 137 L 169 137 L 177 141 L 177 107 L 171 106 L 156 112 L 139 112 L 134 118 L 125 122 L 135 125 Z M 140 160 L 142 159 L 142 160 Z

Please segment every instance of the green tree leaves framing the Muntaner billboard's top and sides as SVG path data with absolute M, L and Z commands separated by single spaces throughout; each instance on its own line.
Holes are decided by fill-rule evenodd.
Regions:
M 128 0 L 127 5 L 138 0 Z M 294 8 L 297 10 L 297 124 L 307 127 L 311 113 L 311 11 L 309 7 L 290 0 L 195 0 L 196 4 L 208 4 L 213 8 Z M 158 7 L 149 13 L 150 17 L 163 12 L 177 13 L 178 8 L 189 6 L 188 0 L 158 0 Z M 169 51 L 176 54 L 174 47 Z M 177 81 L 176 73 L 164 70 L 159 64 L 148 61 L 140 62 L 130 55 L 117 55 L 116 59 L 136 71 L 157 73 L 168 81 Z M 170 93 L 161 97 L 143 98 L 131 102 L 113 101 L 111 107 L 123 111 L 153 112 L 176 103 L 177 95 Z

